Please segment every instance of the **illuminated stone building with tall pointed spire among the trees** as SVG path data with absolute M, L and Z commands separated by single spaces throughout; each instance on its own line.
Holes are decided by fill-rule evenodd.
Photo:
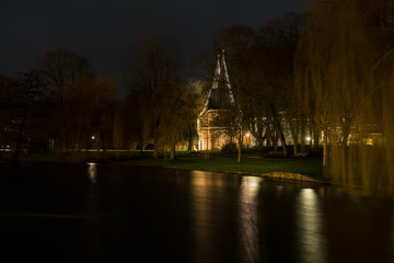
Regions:
M 204 110 L 197 118 L 199 150 L 221 149 L 230 142 L 229 126 L 224 125 L 223 117 L 228 116 L 227 113 L 234 110 L 234 106 L 223 50 L 221 56 L 218 55 L 212 85 Z

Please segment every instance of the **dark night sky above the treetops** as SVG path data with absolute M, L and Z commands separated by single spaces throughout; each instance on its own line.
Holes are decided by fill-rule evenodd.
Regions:
M 192 56 L 213 32 L 242 23 L 257 28 L 308 0 L 1 0 L 0 75 L 28 71 L 46 50 L 86 56 L 97 73 L 125 70 L 131 47 L 152 31 L 171 33 Z

